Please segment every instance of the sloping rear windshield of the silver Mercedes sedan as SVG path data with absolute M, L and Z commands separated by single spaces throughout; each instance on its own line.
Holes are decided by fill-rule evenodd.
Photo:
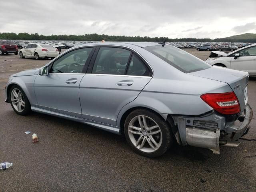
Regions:
M 144 47 L 145 50 L 158 56 L 171 66 L 184 73 L 208 69 L 211 66 L 197 57 L 170 45 L 157 45 Z

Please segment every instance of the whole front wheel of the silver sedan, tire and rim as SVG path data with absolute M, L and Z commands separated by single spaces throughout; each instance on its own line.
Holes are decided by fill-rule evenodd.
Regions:
M 27 115 L 31 111 L 31 105 L 24 91 L 18 86 L 11 87 L 9 98 L 13 110 L 19 115 Z

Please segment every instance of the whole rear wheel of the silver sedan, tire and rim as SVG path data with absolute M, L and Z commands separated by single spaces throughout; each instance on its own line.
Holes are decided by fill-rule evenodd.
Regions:
M 146 157 L 164 154 L 173 140 L 167 122 L 145 109 L 134 110 L 127 116 L 124 135 L 132 150 Z

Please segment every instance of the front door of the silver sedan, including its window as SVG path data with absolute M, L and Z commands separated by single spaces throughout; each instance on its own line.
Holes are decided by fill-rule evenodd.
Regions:
M 39 108 L 82 117 L 79 101 L 79 84 L 84 77 L 93 47 L 78 48 L 62 55 L 48 66 L 48 75 L 38 75 L 34 82 Z M 75 54 L 84 54 L 86 60 L 76 63 Z

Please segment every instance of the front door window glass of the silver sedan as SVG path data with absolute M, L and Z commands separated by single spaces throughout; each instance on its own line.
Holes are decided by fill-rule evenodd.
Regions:
M 50 73 L 82 73 L 92 49 L 82 48 L 66 53 L 53 63 Z

